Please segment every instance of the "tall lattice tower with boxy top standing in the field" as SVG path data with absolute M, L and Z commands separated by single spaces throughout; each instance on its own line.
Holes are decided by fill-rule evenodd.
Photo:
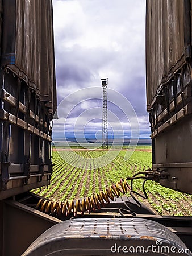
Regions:
M 103 126 L 102 126 L 102 148 L 108 149 L 108 129 L 107 129 L 107 84 L 108 79 L 101 79 L 103 87 Z

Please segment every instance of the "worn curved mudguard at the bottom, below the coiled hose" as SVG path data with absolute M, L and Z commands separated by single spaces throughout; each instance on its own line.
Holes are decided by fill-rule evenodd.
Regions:
M 175 246 L 187 249 L 185 244 L 169 229 L 154 221 L 134 218 L 73 219 L 53 226 L 27 249 L 23 256 L 33 255 L 113 255 L 117 246 Z M 124 255 L 118 251 L 118 255 Z M 140 251 L 133 255 L 141 255 Z M 154 255 L 149 250 L 148 255 Z M 174 255 L 156 253 L 156 255 Z M 183 255 L 191 255 L 184 253 Z

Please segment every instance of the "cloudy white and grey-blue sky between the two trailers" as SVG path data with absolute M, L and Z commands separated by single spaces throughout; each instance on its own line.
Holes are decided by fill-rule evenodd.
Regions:
M 73 133 L 76 122 L 78 131 L 101 132 L 101 79 L 108 77 L 107 89 L 114 90 L 108 93 L 109 133 L 116 129 L 111 128 L 116 123 L 115 118 L 124 134 L 130 133 L 131 117 L 125 114 L 129 107 L 124 101 L 118 110 L 117 99 L 122 100 L 115 97 L 117 91 L 135 109 L 140 137 L 149 138 L 145 100 L 145 1 L 53 0 L 53 22 L 58 104 L 64 100 L 59 106 L 59 120 L 55 122 L 53 133 L 64 129 L 64 109 L 68 112 L 65 120 L 68 135 Z M 85 93 L 82 98 L 81 91 L 77 93 L 95 86 L 99 86 L 101 92 L 96 89 L 95 94 L 89 95 L 90 91 L 84 90 L 87 100 Z M 70 94 L 72 96 L 66 98 Z M 87 110 L 91 108 L 89 113 Z

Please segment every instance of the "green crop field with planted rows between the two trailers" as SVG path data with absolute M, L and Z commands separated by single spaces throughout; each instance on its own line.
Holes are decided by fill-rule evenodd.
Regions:
M 149 151 L 150 149 L 137 148 L 131 158 L 125 160 L 126 150 L 122 150 L 112 162 L 98 168 L 94 166 L 94 159 L 104 158 L 105 160 L 106 151 L 77 150 L 73 152 L 61 149 L 59 152 L 53 151 L 55 165 L 53 166 L 51 184 L 48 188 L 42 188 L 41 192 L 39 189 L 34 192 L 49 200 L 62 201 L 91 196 L 120 179 L 131 177 L 136 172 L 151 168 L 152 159 Z M 81 160 L 76 156 L 80 156 Z M 90 159 L 93 161 L 91 162 Z M 73 163 L 73 166 L 69 162 Z M 135 180 L 133 189 L 141 192 L 142 183 L 143 180 Z M 148 199 L 137 198 L 155 213 L 192 216 L 192 196 L 161 187 L 151 180 L 145 183 L 145 188 Z

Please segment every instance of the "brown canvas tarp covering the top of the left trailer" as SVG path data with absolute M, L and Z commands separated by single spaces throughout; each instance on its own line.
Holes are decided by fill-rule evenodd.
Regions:
M 53 113 L 56 81 L 52 1 L 0 2 L 1 65 L 25 80 Z

